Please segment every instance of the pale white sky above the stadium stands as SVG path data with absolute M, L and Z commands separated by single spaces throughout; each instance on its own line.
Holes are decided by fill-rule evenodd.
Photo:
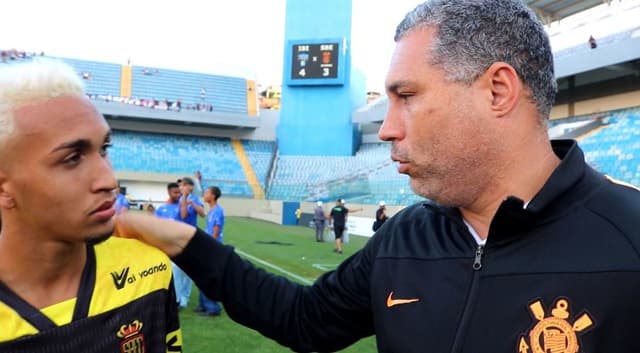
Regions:
M 352 1 L 352 63 L 365 74 L 368 90 L 382 91 L 395 27 L 421 0 Z M 131 59 L 136 66 L 239 76 L 266 87 L 282 80 L 285 3 L 15 0 L 2 6 L 0 49 L 120 64 Z M 595 8 L 590 16 L 596 20 L 563 20 L 574 34 L 552 35 L 552 47 L 575 45 L 586 42 L 589 34 L 604 36 L 638 24 L 640 0 L 612 5 L 617 6 L 615 16 L 602 16 L 603 10 Z

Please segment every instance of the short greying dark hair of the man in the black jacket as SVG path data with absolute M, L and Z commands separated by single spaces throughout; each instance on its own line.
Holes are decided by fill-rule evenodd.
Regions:
M 425 53 L 453 82 L 471 84 L 491 64 L 511 65 L 531 90 L 541 121 L 557 92 L 553 54 L 542 23 L 522 0 L 431 0 L 396 28 L 395 41 L 417 28 L 434 28 Z

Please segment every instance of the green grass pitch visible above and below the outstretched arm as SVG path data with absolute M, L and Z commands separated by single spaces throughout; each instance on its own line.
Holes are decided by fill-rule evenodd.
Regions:
M 335 268 L 343 259 L 360 249 L 368 238 L 351 236 L 344 245 L 342 255 L 333 252 L 332 243 L 317 243 L 314 230 L 306 227 L 280 226 L 273 223 L 227 217 L 224 228 L 226 244 L 233 245 L 240 254 L 273 264 L 294 274 L 290 279 L 304 283 L 313 281 L 328 269 Z M 251 259 L 249 259 L 251 261 Z M 266 270 L 285 275 L 269 266 L 254 264 Z M 189 307 L 180 313 L 185 353 L 273 353 L 291 352 L 244 326 L 233 322 L 223 311 L 218 317 L 203 317 L 193 309 L 198 302 L 194 287 Z M 373 337 L 363 339 L 341 352 L 375 352 Z

